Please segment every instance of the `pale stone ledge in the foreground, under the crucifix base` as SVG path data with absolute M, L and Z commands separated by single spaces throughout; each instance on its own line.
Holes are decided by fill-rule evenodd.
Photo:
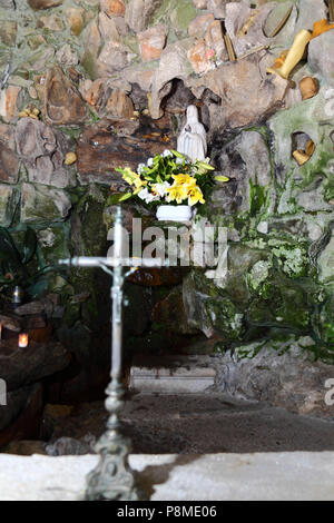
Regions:
M 1 501 L 79 501 L 98 456 L 0 456 Z M 150 501 L 332 501 L 334 453 L 130 455 Z

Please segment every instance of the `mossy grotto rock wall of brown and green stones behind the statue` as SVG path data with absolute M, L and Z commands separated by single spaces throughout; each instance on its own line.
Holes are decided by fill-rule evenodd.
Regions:
M 32 227 L 43 266 L 105 255 L 125 189 L 115 169 L 175 147 L 185 109 L 196 103 L 209 156 L 230 178 L 196 219 L 228 228 L 229 272 L 218 282 L 193 268 L 130 283 L 132 345 L 170 322 L 181 336 L 204 333 L 224 348 L 308 335 L 330 356 L 334 31 L 312 40 L 289 80 L 266 73 L 298 30 L 327 16 L 323 0 L 0 0 L 2 76 L 9 65 L 0 95 L 0 225 L 18 237 Z M 305 77 L 320 90 L 303 100 Z M 293 152 L 310 140 L 315 150 L 299 166 Z M 125 209 L 129 227 L 132 216 L 151 218 L 141 207 Z M 61 295 L 58 337 L 81 369 L 69 373 L 65 397 L 100 385 L 94 376 L 108 354 L 106 289 L 95 272 L 48 282 L 47 290 Z

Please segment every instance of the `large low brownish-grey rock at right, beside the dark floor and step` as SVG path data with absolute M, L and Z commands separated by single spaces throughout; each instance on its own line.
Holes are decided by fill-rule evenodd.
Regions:
M 303 352 L 313 344 L 307 337 L 291 337 L 274 344 L 276 349 L 273 343 L 254 343 L 234 355 L 228 352 L 219 362 L 220 388 L 239 398 L 267 401 L 291 412 L 333 420 L 333 406 L 325 403 L 325 383 L 334 371 Z

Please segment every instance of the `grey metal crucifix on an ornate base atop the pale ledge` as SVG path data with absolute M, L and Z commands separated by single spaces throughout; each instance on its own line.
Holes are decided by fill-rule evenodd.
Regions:
M 143 494 L 136 486 L 134 473 L 128 464 L 131 442 L 121 434 L 119 420 L 124 406 L 125 387 L 121 383 L 121 335 L 122 335 L 122 285 L 127 276 L 139 266 L 160 267 L 164 262 L 158 258 L 131 259 L 122 258 L 122 217 L 120 207 L 117 210 L 114 236 L 112 258 L 79 257 L 60 260 L 62 265 L 75 267 L 100 267 L 114 277 L 111 287 L 112 299 L 112 347 L 111 347 L 111 382 L 106 393 L 106 408 L 110 413 L 107 431 L 96 445 L 100 454 L 97 467 L 88 474 L 86 499 L 88 501 L 138 501 Z M 109 267 L 114 268 L 114 272 Z M 124 267 L 131 267 L 124 274 Z

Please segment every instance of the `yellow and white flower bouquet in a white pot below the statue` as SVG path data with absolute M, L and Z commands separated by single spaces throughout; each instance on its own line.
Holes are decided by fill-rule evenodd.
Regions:
M 122 195 L 119 201 L 138 197 L 150 207 L 166 207 L 167 204 L 169 213 L 158 209 L 159 219 L 183 219 L 183 213 L 184 219 L 190 219 L 191 207 L 205 204 L 204 194 L 215 179 L 228 180 L 225 176 L 213 175 L 215 168 L 209 164 L 209 158 L 191 162 L 185 155 L 168 149 L 149 158 L 146 165 L 139 164 L 137 172 L 129 167 L 116 170 L 131 186 L 131 191 Z

